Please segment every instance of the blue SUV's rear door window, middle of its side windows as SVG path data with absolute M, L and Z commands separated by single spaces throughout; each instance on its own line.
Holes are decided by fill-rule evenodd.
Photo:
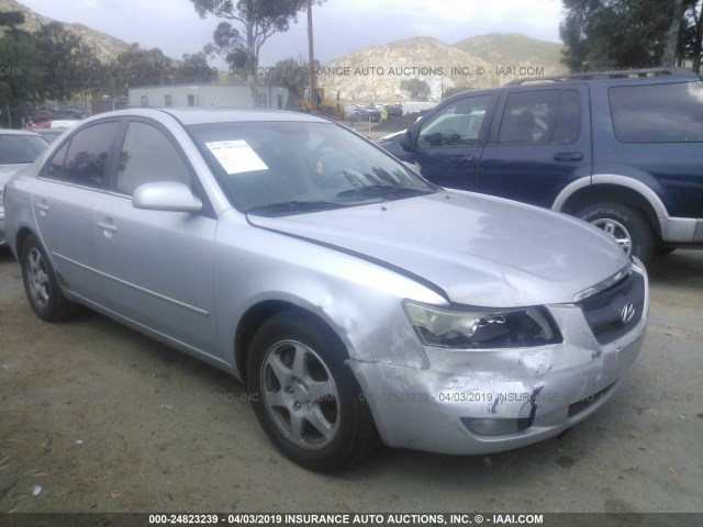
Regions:
M 498 142 L 501 144 L 568 144 L 579 138 L 581 103 L 577 90 L 511 93 Z

